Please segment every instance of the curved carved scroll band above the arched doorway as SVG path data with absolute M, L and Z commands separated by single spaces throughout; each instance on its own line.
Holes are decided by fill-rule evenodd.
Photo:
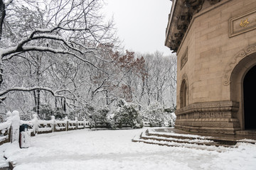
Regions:
M 235 55 L 235 57 L 233 57 L 230 63 L 226 65 L 223 75 L 223 84 L 225 86 L 228 86 L 230 84 L 230 76 L 238 62 L 240 62 L 242 59 L 244 59 L 248 55 L 251 55 L 254 52 L 256 52 L 256 45 L 250 45 L 249 47 L 245 47 L 243 50 L 238 52 L 238 54 Z

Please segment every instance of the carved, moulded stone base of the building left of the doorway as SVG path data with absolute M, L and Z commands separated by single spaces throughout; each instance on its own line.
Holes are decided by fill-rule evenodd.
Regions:
M 193 103 L 176 111 L 176 128 L 190 132 L 235 134 L 241 130 L 235 115 L 239 103 L 217 101 Z

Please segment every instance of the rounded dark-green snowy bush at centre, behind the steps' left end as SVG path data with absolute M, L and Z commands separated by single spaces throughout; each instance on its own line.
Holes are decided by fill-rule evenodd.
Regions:
M 132 128 L 142 128 L 142 116 L 139 114 L 134 103 L 127 103 L 124 99 L 120 99 L 116 103 L 114 109 L 114 120 L 123 124 L 130 125 Z

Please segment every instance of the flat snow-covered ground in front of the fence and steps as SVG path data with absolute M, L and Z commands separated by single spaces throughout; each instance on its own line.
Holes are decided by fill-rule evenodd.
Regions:
M 145 129 L 144 129 L 145 130 Z M 132 142 L 139 130 L 76 130 L 37 135 L 31 147 L 0 147 L 21 169 L 256 169 L 256 145 L 225 152 Z

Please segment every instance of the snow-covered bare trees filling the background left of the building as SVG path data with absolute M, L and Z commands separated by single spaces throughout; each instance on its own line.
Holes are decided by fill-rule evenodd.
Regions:
M 120 99 L 141 112 L 156 103 L 176 108 L 176 57 L 123 52 L 101 6 L 101 0 L 0 0 L 2 113 L 93 119 Z

